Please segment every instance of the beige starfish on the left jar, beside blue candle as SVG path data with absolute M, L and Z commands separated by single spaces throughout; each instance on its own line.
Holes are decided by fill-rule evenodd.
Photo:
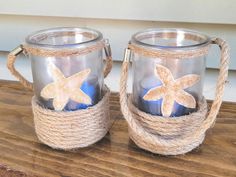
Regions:
M 53 98 L 55 110 L 63 110 L 69 99 L 78 103 L 91 104 L 91 98 L 80 89 L 90 69 L 80 71 L 68 78 L 53 64 L 49 65 L 49 70 L 54 82 L 46 85 L 40 94 L 45 99 Z

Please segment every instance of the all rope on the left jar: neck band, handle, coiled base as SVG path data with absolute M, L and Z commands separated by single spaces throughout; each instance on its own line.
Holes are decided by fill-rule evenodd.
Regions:
M 21 45 L 8 55 L 7 67 L 20 83 L 33 90 L 33 84 L 27 81 L 16 69 L 16 57 L 26 52 L 43 57 L 65 57 L 89 54 L 105 48 L 106 63 L 104 77 L 112 68 L 110 45 L 98 42 L 80 49 L 45 49 L 29 45 Z M 103 88 L 103 98 L 94 106 L 72 112 L 54 111 L 39 105 L 34 96 L 32 109 L 34 125 L 38 139 L 54 149 L 73 150 L 89 146 L 102 139 L 110 129 L 109 95 L 107 86 Z

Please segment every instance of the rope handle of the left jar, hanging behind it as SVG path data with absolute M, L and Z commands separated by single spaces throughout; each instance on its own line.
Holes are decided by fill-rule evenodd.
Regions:
M 106 63 L 105 63 L 103 73 L 104 73 L 104 77 L 106 78 L 112 69 L 111 47 L 110 47 L 110 44 L 107 40 L 105 41 L 104 50 L 105 50 L 105 55 L 106 55 L 106 58 L 105 58 Z M 24 51 L 26 51 L 26 50 L 24 49 L 23 45 L 19 45 L 17 48 L 12 50 L 7 56 L 7 67 L 10 70 L 10 72 L 12 73 L 12 75 L 15 76 L 25 88 L 33 90 L 33 83 L 31 83 L 27 79 L 25 79 L 16 70 L 16 68 L 14 66 L 17 56 L 20 55 L 22 52 L 24 53 Z

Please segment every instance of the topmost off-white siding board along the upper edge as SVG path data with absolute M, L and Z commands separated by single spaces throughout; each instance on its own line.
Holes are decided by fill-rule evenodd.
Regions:
M 0 14 L 236 24 L 234 0 L 8 0 Z

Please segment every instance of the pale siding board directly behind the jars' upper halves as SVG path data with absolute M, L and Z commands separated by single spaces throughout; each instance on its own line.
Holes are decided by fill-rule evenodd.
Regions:
M 100 30 L 110 40 L 113 57 L 121 60 L 123 50 L 131 35 L 139 30 L 153 27 L 179 27 L 199 30 L 210 36 L 227 40 L 231 46 L 230 68 L 236 69 L 236 25 L 180 22 L 154 22 L 140 20 L 108 20 L 68 17 L 0 15 L 0 51 L 9 51 L 24 42 L 25 36 L 39 29 L 58 26 L 86 26 Z M 217 68 L 219 52 L 213 47 L 207 66 Z

